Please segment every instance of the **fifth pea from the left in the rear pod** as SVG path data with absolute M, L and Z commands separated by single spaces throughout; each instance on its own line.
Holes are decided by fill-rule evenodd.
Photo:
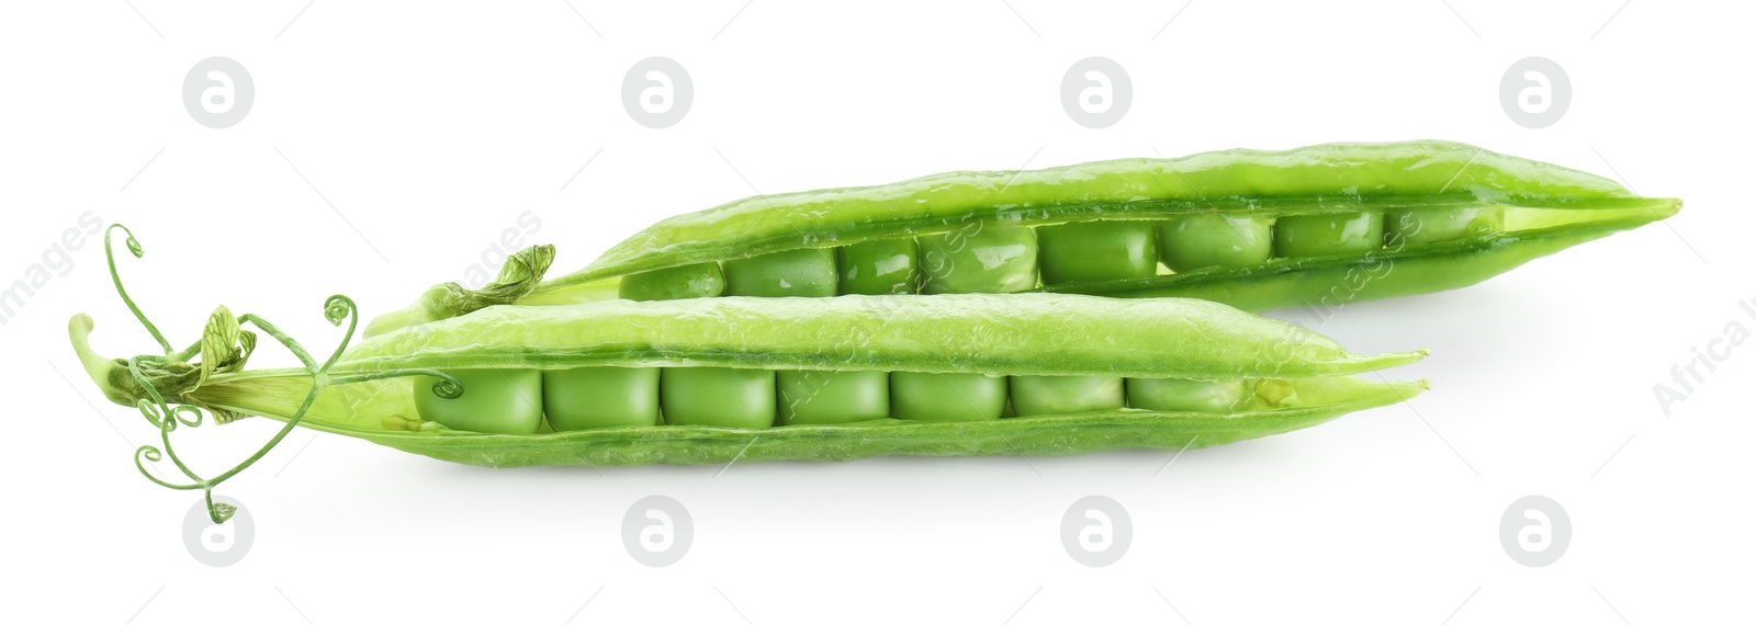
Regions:
M 1147 221 L 1092 221 L 1036 228 L 1043 284 L 1103 283 L 1159 272 Z

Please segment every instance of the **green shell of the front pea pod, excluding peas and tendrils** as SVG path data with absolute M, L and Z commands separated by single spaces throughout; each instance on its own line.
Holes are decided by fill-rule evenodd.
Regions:
M 748 427 L 662 425 L 497 435 L 420 421 L 414 418 L 420 414 L 414 383 L 390 377 L 325 388 L 300 425 L 444 460 L 495 467 L 1180 449 L 1185 444 L 1205 446 L 1285 432 L 1349 411 L 1403 400 L 1426 384 L 1380 383 L 1352 374 L 1419 358 L 1421 353 L 1361 356 L 1289 323 L 1212 302 L 1177 298 L 1018 293 L 493 305 L 367 339 L 342 355 L 332 376 L 425 367 L 511 367 L 534 372 L 616 365 L 667 367 L 666 372 L 699 367 L 759 370 L 752 376 L 771 376 L 767 370 L 774 369 L 817 369 L 1284 377 L 1298 386 L 1299 402 L 1261 406 L 1220 418 L 1120 409 L 983 421 L 874 420 L 767 428 L 767 423 L 753 420 Z M 899 377 L 906 376 L 892 376 L 892 399 L 899 393 Z M 706 392 L 701 381 L 671 381 L 676 384 L 667 384 L 662 376 L 660 393 L 667 386 L 681 386 L 711 397 L 715 411 L 729 397 L 743 393 Z M 309 377 L 302 370 L 256 370 L 216 376 L 191 397 L 214 407 L 288 418 L 307 392 Z M 666 402 L 664 409 L 669 420 L 673 406 Z M 760 409 L 774 414 L 774 406 Z

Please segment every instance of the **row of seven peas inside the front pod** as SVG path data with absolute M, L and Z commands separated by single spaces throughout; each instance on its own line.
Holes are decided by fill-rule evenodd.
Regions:
M 882 418 L 983 421 L 1122 407 L 1234 413 L 1287 393 L 1280 381 L 985 376 L 883 370 L 579 367 L 451 370 L 471 402 L 418 383 L 421 418 L 453 430 L 536 434 L 639 425 L 767 428 Z M 483 409 L 493 407 L 493 409 Z

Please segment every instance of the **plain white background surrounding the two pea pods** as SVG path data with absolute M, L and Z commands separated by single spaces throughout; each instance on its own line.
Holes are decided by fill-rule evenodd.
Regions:
M 183 4 L 0 7 L 0 281 L 53 279 L 0 327 L 7 583 L 0 620 L 1665 623 L 1749 618 L 1756 348 L 1668 418 L 1654 384 L 1756 298 L 1749 7 L 1724 2 Z M 585 19 L 581 19 L 581 16 Z M 1175 19 L 1173 19 L 1175 16 Z M 242 123 L 197 125 L 195 61 L 255 79 Z M 680 61 L 676 126 L 622 109 L 627 68 Z M 1115 126 L 1061 109 L 1106 56 Z M 1526 56 L 1572 77 L 1565 118 L 1500 107 Z M 91 211 L 133 226 L 123 272 L 183 346 L 218 304 L 314 349 L 330 293 L 367 318 L 462 279 L 532 211 L 525 242 L 583 267 L 664 216 L 757 191 L 954 169 L 1226 147 L 1450 139 L 1682 197 L 1651 225 L 1489 283 L 1359 304 L 1317 330 L 1357 351 L 1431 348 L 1410 404 L 1224 448 L 1073 458 L 492 471 L 293 434 L 221 486 L 255 516 L 242 562 L 179 537 L 191 493 L 130 455 L 155 430 L 83 379 L 65 320 L 148 353 L 102 246 L 56 263 Z M 1298 312 L 1280 312 L 1298 318 Z M 288 358 L 262 351 L 260 365 Z M 65 376 L 65 379 L 63 379 Z M 228 467 L 269 421 L 179 432 Z M 1161 472 L 1162 469 L 1162 472 Z M 1157 474 L 1157 476 L 1155 476 Z M 1155 476 L 1155 478 L 1154 478 Z M 1515 564 L 1500 518 L 1556 499 L 1572 544 Z M 622 516 L 683 502 L 694 548 L 634 562 Z M 1062 550 L 1085 495 L 1126 506 L 1115 565 Z

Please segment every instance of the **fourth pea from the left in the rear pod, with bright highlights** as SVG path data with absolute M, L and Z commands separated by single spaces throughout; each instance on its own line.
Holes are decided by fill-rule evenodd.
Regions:
M 1036 232 L 973 225 L 917 237 L 922 293 L 1017 293 L 1036 288 Z

